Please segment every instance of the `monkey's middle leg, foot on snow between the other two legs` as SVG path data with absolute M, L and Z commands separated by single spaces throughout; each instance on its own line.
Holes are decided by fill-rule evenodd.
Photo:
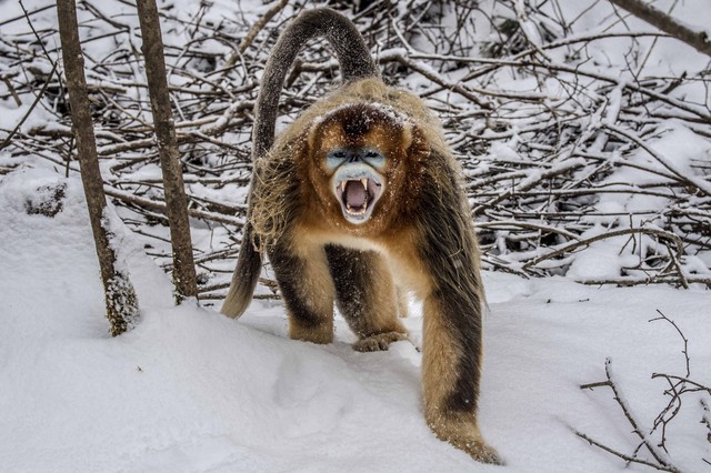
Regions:
M 339 245 L 326 248 L 336 303 L 359 340 L 360 352 L 388 350 L 392 342 L 408 339 L 398 320 L 397 288 L 384 259 L 374 251 L 349 250 Z

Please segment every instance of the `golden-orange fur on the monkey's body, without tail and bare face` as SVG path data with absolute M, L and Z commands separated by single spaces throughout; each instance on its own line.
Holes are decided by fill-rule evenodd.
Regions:
M 346 135 L 343 123 L 330 121 L 329 117 L 359 103 L 384 110 L 391 120 L 375 121 L 368 133 L 353 141 Z M 343 220 L 341 209 L 329 190 L 324 155 L 328 150 L 343 143 L 374 145 L 389 161 L 384 194 L 370 221 L 362 225 Z M 301 254 L 307 261 L 301 286 L 306 292 L 301 295 L 308 308 L 320 314 L 318 318 L 322 323 L 310 322 L 304 328 L 290 312 L 290 334 L 300 340 L 328 343 L 332 339 L 334 288 L 328 281 L 324 245 L 338 243 L 360 251 L 374 251 L 368 256 L 370 276 L 379 284 L 367 294 L 370 313 L 360 321 L 349 321 L 360 338 L 354 348 L 361 351 L 382 350 L 393 341 L 403 340 L 405 332 L 397 320 L 400 302 L 393 279 L 399 285 L 414 291 L 424 301 L 422 384 L 428 424 L 439 437 L 478 460 L 495 463 L 499 461 L 497 453 L 483 442 L 475 411 L 460 413 L 448 407 L 452 390 L 461 376 L 452 360 L 473 358 L 478 361 L 472 369 L 481 370 L 481 345 L 473 344 L 478 353 L 464 353 L 471 349 L 464 348 L 452 334 L 451 322 L 440 315 L 449 308 L 442 306 L 439 295 L 433 295 L 440 290 L 439 281 L 444 278 L 453 280 L 449 291 L 461 291 L 461 298 L 470 300 L 471 294 L 467 291 L 473 289 L 477 292 L 474 303 L 483 303 L 479 250 L 463 198 L 457 198 L 457 208 L 447 209 L 451 205 L 447 201 L 448 192 L 459 185 L 458 170 L 438 120 L 421 100 L 384 85 L 380 79 L 360 80 L 314 103 L 278 138 L 266 158 L 257 162 L 252 223 L 262 250 L 269 251 L 270 245 L 287 242 L 293 253 Z M 424 175 L 429 179 L 427 182 Z M 445 208 L 439 212 L 455 214 L 457 225 L 451 227 L 444 221 L 437 229 L 419 225 L 421 220 L 414 215 L 423 211 L 420 199 L 425 191 L 433 209 Z M 428 227 L 432 225 L 428 223 Z M 462 229 L 465 229 L 463 233 Z M 413 251 L 431 244 L 424 241 L 423 235 L 432 231 L 434 239 L 453 242 L 457 248 L 454 252 L 442 255 L 442 262 L 438 263 L 447 265 L 442 270 Z M 481 306 L 472 310 L 481 313 Z M 480 322 L 479 315 L 474 322 L 478 331 Z

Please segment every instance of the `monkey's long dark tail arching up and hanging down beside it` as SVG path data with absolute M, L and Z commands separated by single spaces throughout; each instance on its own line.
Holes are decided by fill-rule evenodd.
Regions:
M 262 74 L 252 131 L 254 163 L 267 154 L 274 142 L 279 95 L 287 72 L 297 54 L 312 38 L 326 38 L 331 43 L 336 50 L 344 83 L 380 76 L 365 41 L 348 18 L 330 8 L 318 8 L 299 14 L 279 37 Z M 252 171 L 250 195 L 253 185 L 254 172 Z M 221 309 L 223 314 L 231 318 L 242 315 L 251 303 L 262 266 L 262 252 L 254 244 L 254 228 L 251 224 L 252 204 L 251 199 L 249 200 L 248 220 L 244 224 L 237 268 Z

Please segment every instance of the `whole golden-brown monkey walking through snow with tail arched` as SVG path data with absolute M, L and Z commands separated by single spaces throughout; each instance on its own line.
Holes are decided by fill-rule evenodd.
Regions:
M 333 22 L 339 29 L 328 27 Z M 272 145 L 287 69 L 317 32 L 337 49 L 346 84 L 307 109 Z M 428 425 L 475 460 L 501 463 L 477 422 L 483 291 L 461 171 L 424 103 L 375 76 L 358 31 L 332 10 L 302 13 L 280 38 L 258 101 L 250 219 L 222 312 L 239 316 L 247 308 L 264 253 L 292 339 L 331 342 L 336 303 L 359 338 L 356 350 L 387 350 L 407 336 L 398 315 L 407 312 L 404 290 L 411 291 L 423 301 Z M 356 204 L 371 212 L 363 220 L 344 213 L 344 190 L 334 194 L 333 179 L 347 175 L 337 174 L 334 165 L 342 171 L 347 164 L 330 164 L 329 157 L 344 149 L 360 150 L 351 154 L 356 160 L 363 150 L 379 153 L 377 164 L 348 168 L 382 178 L 373 184 L 373 201 L 370 178 L 363 180 L 365 202 L 375 202 Z M 339 182 L 347 179 L 350 185 L 363 174 L 352 175 Z

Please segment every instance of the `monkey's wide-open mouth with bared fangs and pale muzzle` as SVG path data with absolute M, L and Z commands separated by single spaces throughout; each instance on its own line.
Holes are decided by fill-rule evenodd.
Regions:
M 333 193 L 341 204 L 343 217 L 351 223 L 363 223 L 373 211 L 382 195 L 383 184 L 380 177 L 367 173 L 360 177 L 334 179 Z

